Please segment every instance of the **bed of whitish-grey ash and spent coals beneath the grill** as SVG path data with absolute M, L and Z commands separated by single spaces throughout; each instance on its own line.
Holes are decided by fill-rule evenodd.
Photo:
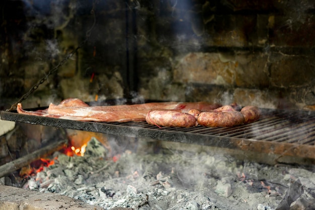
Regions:
M 94 138 L 86 149 L 84 157 L 56 153 L 55 164 L 24 187 L 105 209 L 276 209 L 292 181 L 300 178 L 304 187 L 307 180 L 314 184 L 315 177 L 309 170 L 289 166 L 171 150 L 159 154 L 126 151 L 114 162 Z M 313 201 L 314 192 L 305 186 L 296 203 Z

